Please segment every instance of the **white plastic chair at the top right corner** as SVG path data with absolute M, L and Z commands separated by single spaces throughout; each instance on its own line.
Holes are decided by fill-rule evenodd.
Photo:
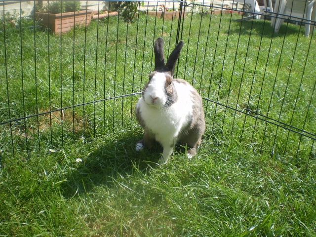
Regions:
M 305 36 L 309 36 L 314 31 L 314 25 L 311 21 L 316 20 L 316 1 L 315 0 L 276 0 L 274 7 L 275 17 L 271 19 L 271 26 L 278 33 L 284 19 L 289 19 L 291 16 L 305 18 Z M 282 16 L 278 14 L 286 14 Z M 294 18 L 295 19 L 295 18 Z

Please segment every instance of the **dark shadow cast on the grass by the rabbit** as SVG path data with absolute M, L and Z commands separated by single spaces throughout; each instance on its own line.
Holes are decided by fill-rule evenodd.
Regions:
M 68 175 L 67 182 L 63 183 L 63 195 L 72 197 L 91 193 L 94 187 L 111 187 L 118 177 L 128 177 L 137 172 L 147 173 L 157 165 L 160 153 L 158 150 L 146 149 L 136 152 L 135 144 L 140 137 L 139 129 L 131 129 L 89 144 L 90 152 Z

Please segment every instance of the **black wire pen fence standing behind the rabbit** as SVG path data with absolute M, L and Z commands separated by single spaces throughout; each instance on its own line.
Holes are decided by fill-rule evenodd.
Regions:
M 36 10 L 23 12 L 25 2 L 10 12 L 1 4 L 0 158 L 138 126 L 135 104 L 158 37 L 166 57 L 184 40 L 175 75 L 203 98 L 204 139 L 238 139 L 294 162 L 315 158 L 315 21 L 305 15 L 276 33 L 271 22 L 287 15 L 267 6 L 253 14 L 234 1 L 81 1 L 81 24 L 53 33 Z

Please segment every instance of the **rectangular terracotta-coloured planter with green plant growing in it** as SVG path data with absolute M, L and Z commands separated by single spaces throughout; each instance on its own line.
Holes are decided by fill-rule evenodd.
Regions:
M 47 5 L 36 4 L 35 16 L 40 23 L 56 33 L 71 30 L 75 25 L 87 26 L 91 20 L 91 10 L 80 11 L 80 1 L 52 1 Z

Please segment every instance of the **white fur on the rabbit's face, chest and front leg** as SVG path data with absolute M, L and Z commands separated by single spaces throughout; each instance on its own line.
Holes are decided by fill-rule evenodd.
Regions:
M 189 84 L 175 80 L 172 83 L 177 92 L 177 102 L 169 107 L 163 106 L 167 100 L 164 93 L 165 80 L 164 73 L 156 73 L 145 91 L 145 100 L 141 97 L 136 105 L 146 127 L 155 134 L 155 139 L 163 147 L 159 163 L 167 162 L 179 132 L 188 124 L 187 118 L 193 111 L 193 103 L 190 99 L 193 88 Z

